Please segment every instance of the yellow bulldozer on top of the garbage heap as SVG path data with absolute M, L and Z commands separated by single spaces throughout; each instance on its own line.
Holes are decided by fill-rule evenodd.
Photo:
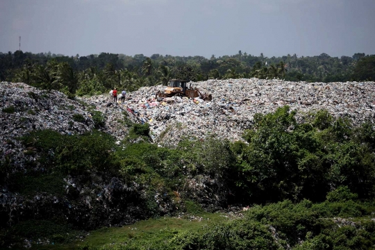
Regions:
M 172 79 L 169 81 L 169 85 L 165 88 L 164 93 L 158 92 L 156 98 L 165 98 L 165 97 L 189 97 L 196 98 L 199 97 L 204 101 L 211 101 L 213 96 L 211 94 L 202 94 L 197 88 L 192 88 L 192 83 L 188 87 L 188 81 Z

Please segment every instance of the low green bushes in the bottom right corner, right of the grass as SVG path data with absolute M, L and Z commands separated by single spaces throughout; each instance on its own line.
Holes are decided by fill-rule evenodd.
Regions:
M 358 235 L 364 235 L 363 232 L 358 229 L 359 226 L 347 226 L 349 228 L 350 235 L 340 231 L 340 221 L 347 222 L 350 217 L 359 217 L 363 215 L 369 215 L 371 212 L 371 206 L 367 208 L 360 203 L 354 201 L 345 201 L 341 203 L 330 203 L 328 201 L 324 203 L 313 204 L 310 201 L 303 200 L 300 203 L 293 204 L 291 201 L 283 201 L 274 204 L 269 204 L 268 206 L 254 206 L 250 208 L 246 213 L 246 219 L 249 221 L 255 220 L 261 222 L 262 224 L 267 224 L 276 228 L 276 233 L 281 240 L 285 240 L 290 244 L 290 246 L 295 246 L 297 249 L 319 249 L 316 248 L 326 245 L 327 248 L 332 249 L 333 246 L 344 246 L 349 247 L 353 243 L 353 240 L 358 240 L 356 238 Z M 340 221 L 336 222 L 332 217 L 341 217 Z M 371 231 L 373 228 L 372 224 L 365 224 L 367 228 Z M 347 232 L 347 231 L 345 231 Z M 343 235 L 348 237 L 348 241 L 335 242 L 332 239 L 340 239 Z M 362 237 L 361 236 L 361 237 Z M 363 236 L 363 242 L 361 245 L 370 239 L 370 235 Z M 305 248 L 298 247 L 303 241 L 308 243 L 303 243 Z M 360 240 L 362 241 L 362 240 Z M 360 248 L 356 248 L 360 249 Z

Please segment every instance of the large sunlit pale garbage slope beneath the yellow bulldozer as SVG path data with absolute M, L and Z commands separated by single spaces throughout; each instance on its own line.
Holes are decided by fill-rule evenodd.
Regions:
M 119 114 L 128 110 L 133 122 L 149 123 L 154 142 L 176 145 L 186 136 L 203 139 L 240 140 L 251 127 L 256 113 L 272 113 L 288 105 L 297 110 L 297 119 L 313 110 L 326 109 L 335 117 L 349 117 L 354 124 L 374 119 L 374 82 L 306 83 L 283 80 L 228 79 L 192 83 L 213 101 L 180 97 L 155 99 L 165 86 L 140 88 L 126 95 L 124 103 L 108 106 L 109 94 L 84 99 L 108 116 L 108 132 L 122 140 L 124 133 L 114 127 Z M 111 122 L 112 121 L 112 122 Z M 112 127 L 111 127 L 112 126 Z M 120 131 L 121 132 L 121 131 Z

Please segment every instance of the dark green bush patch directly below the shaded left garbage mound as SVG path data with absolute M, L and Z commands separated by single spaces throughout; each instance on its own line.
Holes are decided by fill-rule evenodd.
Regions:
M 34 131 L 24 136 L 26 146 L 41 151 L 40 162 L 45 167 L 56 163 L 64 172 L 78 174 L 88 169 L 103 171 L 115 167 L 113 164 L 114 139 L 99 131 L 84 135 L 60 135 L 51 130 Z M 52 166 L 50 166 L 52 165 Z

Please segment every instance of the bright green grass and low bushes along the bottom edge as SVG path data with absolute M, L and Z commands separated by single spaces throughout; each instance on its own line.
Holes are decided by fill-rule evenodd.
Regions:
M 353 200 L 285 200 L 253 206 L 243 219 L 203 213 L 199 221 L 165 217 L 102 228 L 83 242 L 53 249 L 372 249 L 374 209 L 372 203 Z

